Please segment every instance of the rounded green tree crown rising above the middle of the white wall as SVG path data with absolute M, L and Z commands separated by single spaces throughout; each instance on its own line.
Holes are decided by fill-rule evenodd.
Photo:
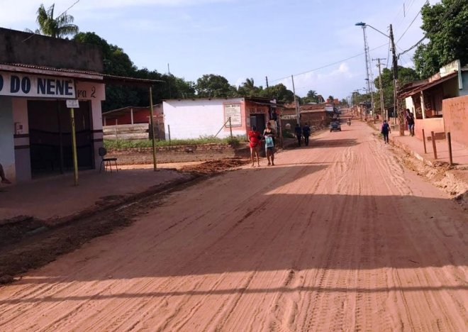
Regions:
M 237 89 L 221 75 L 205 74 L 196 80 L 196 95 L 202 98 L 230 97 L 237 95 Z

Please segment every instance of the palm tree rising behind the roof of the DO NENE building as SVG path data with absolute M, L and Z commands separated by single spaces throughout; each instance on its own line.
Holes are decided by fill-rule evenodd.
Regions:
M 78 33 L 78 26 L 72 24 L 74 21 L 73 16 L 67 15 L 67 12 L 65 12 L 57 18 L 54 18 L 54 7 L 55 4 L 52 4 L 49 9 L 45 10 L 44 5 L 41 4 L 38 9 L 37 18 L 39 28 L 35 31 L 26 29 L 26 32 L 49 35 L 53 38 L 64 38 L 67 35 Z

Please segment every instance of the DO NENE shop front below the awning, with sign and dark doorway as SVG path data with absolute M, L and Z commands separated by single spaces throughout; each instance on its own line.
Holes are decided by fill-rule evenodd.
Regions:
M 6 177 L 24 182 L 74 169 L 67 100 L 77 103 L 73 122 L 78 168 L 99 165 L 104 99 L 99 73 L 0 65 L 0 163 Z

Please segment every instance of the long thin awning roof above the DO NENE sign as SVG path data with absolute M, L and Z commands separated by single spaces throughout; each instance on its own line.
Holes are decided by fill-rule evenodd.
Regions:
M 43 74 L 48 76 L 69 77 L 72 79 L 83 79 L 90 82 L 104 84 L 128 84 L 152 86 L 164 81 L 158 79 L 140 79 L 135 77 L 123 77 L 87 70 L 72 70 L 67 68 L 44 67 L 27 65 L 23 63 L 0 63 L 0 70 L 4 72 L 24 72 L 29 74 Z

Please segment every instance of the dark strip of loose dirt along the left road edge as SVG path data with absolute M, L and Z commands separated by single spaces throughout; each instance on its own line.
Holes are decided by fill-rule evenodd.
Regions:
M 0 221 L 0 285 L 9 284 L 15 276 L 80 248 L 92 238 L 129 226 L 135 217 L 160 204 L 167 194 L 196 183 L 196 179 L 201 177 L 191 176 L 162 184 L 125 201 L 117 195 L 102 197 L 96 202 L 101 207 L 94 213 L 70 216 L 69 220 L 64 218 L 59 223 L 30 216 Z M 112 201 L 116 204 L 106 205 Z

